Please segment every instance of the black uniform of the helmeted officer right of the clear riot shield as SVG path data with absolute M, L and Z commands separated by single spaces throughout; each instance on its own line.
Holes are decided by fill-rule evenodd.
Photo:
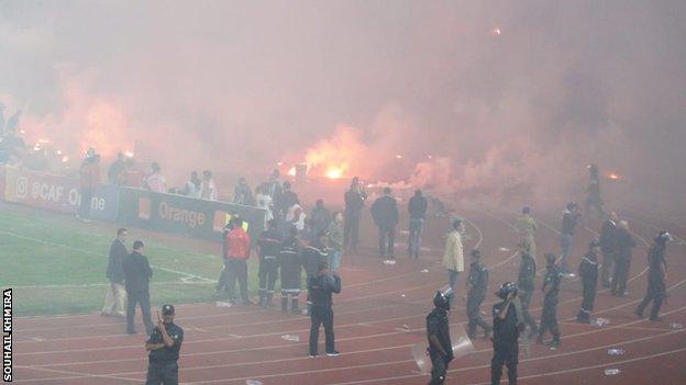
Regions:
M 519 327 L 514 304 L 508 305 L 505 319 L 498 318 L 498 314 L 505 306 L 499 302 L 493 307 L 494 317 L 494 358 L 490 361 L 490 383 L 500 384 L 502 364 L 508 367 L 508 384 L 517 385 L 517 364 L 519 363 Z M 522 307 L 523 309 L 523 307 Z

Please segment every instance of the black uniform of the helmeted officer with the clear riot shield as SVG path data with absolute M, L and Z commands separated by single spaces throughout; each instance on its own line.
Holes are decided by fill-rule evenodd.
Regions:
M 447 356 L 441 355 L 431 342 L 429 343 L 429 358 L 431 358 L 431 382 L 429 385 L 441 385 L 445 382 L 447 364 L 453 361 L 453 342 L 450 338 L 447 312 L 434 308 L 427 316 L 427 337 L 436 336 L 441 347 Z

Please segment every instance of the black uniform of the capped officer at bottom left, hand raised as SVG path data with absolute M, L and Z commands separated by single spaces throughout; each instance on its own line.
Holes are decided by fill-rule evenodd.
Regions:
M 174 340 L 170 348 L 152 350 L 148 354 L 147 380 L 145 385 L 177 385 L 178 384 L 178 356 L 184 342 L 184 329 L 176 324 L 165 324 L 167 335 Z M 164 343 L 162 332 L 155 328 L 147 343 Z

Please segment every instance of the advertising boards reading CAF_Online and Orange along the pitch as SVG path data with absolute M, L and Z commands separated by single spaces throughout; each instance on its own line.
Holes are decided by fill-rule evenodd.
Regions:
M 62 213 L 76 213 L 79 181 L 74 178 L 0 166 L 0 197 L 8 202 Z M 148 190 L 100 184 L 90 202 L 90 216 L 156 231 L 219 240 L 233 215 L 240 215 L 251 239 L 265 225 L 262 208 L 204 201 Z

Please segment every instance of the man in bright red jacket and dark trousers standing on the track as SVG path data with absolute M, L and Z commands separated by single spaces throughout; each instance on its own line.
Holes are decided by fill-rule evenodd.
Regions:
M 250 236 L 243 229 L 243 219 L 234 217 L 232 230 L 224 237 L 224 262 L 229 280 L 229 301 L 235 302 L 235 281 L 241 286 L 243 305 L 252 305 L 247 297 L 247 259 L 250 258 Z

